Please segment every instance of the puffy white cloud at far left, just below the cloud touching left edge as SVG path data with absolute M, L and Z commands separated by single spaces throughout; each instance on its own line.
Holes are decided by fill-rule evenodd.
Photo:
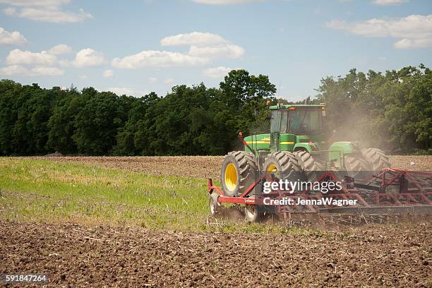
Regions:
M 48 54 L 46 51 L 30 52 L 20 49 L 13 49 L 6 56 L 8 65 L 43 65 L 53 66 L 57 63 L 56 56 Z

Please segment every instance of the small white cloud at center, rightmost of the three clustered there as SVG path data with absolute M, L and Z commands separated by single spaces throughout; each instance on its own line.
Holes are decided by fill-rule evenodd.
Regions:
M 212 47 L 191 46 L 189 55 L 209 58 L 231 58 L 236 59 L 244 54 L 244 49 L 234 44 L 223 44 Z

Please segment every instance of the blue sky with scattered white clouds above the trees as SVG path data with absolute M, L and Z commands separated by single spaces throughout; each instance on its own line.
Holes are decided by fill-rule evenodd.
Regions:
M 432 64 L 431 0 L 0 0 L 0 78 L 139 97 L 268 75 L 277 97 L 320 79 Z

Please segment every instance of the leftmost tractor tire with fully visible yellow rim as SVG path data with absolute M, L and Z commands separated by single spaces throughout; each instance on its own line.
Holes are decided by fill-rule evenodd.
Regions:
M 222 162 L 220 179 L 227 196 L 237 196 L 256 181 L 258 166 L 253 154 L 244 151 L 229 152 Z

